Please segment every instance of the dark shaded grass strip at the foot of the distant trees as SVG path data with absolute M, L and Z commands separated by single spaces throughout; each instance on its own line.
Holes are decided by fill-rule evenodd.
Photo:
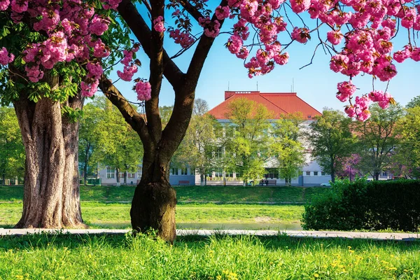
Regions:
M 134 186 L 81 186 L 80 199 L 95 202 L 131 202 Z M 179 202 L 292 202 L 311 200 L 326 188 L 179 186 L 174 187 Z M 23 188 L 0 186 L 0 202 L 22 201 Z

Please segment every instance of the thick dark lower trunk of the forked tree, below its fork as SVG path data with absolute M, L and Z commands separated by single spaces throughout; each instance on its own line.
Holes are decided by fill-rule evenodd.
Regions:
M 132 228 L 137 232 L 157 230 L 159 237 L 173 243 L 176 192 L 169 184 L 169 160 L 162 160 L 159 153 L 153 154 L 153 150 L 144 151 L 141 181 L 134 191 L 130 210 Z

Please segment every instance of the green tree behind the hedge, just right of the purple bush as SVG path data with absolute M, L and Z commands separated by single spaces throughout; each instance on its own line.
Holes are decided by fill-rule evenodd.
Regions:
M 372 116 L 369 120 L 355 123 L 355 131 L 358 134 L 360 169 L 378 180 L 381 171 L 391 164 L 392 155 L 400 142 L 398 122 L 403 110 L 399 104 L 391 105 L 386 110 L 374 104 L 370 112 Z

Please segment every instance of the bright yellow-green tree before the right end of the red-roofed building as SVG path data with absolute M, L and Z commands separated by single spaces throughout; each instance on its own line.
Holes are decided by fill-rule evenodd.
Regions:
M 302 113 L 282 116 L 272 128 L 272 151 L 279 168 L 279 178 L 290 185 L 304 164 L 304 147 L 300 138 L 300 124 L 304 121 Z

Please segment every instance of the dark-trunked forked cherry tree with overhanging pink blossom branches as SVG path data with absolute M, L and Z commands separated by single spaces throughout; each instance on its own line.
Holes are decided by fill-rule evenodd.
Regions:
M 92 94 L 99 86 L 106 97 L 118 107 L 127 123 L 139 134 L 144 144 L 144 162 L 141 182 L 134 193 L 130 211 L 132 227 L 139 231 L 148 228 L 157 229 L 160 237 L 169 241 L 175 238 L 176 205 L 174 189 L 168 182 L 169 161 L 186 133 L 193 111 L 197 81 L 217 37 L 222 37 L 221 40 L 226 43 L 228 51 L 239 59 L 244 59 L 244 66 L 248 69 L 250 78 L 269 73 L 276 65 L 286 64 L 289 59 L 287 49 L 290 45 L 304 44 L 315 37 L 319 41 L 316 49 L 321 46 L 325 52 L 330 52 L 332 71 L 342 73 L 345 77 L 344 81 L 337 85 L 337 98 L 347 102 L 346 113 L 358 120 L 369 118 L 369 106 L 372 102 L 377 102 L 379 106 L 386 108 L 388 104 L 393 103 L 393 98 L 386 91 L 373 89 L 372 92 L 355 97 L 357 87 L 352 83 L 353 77 L 365 74 L 387 82 L 397 73 L 395 62 L 402 62 L 405 59 L 420 60 L 420 49 L 416 47 L 414 41 L 414 33 L 420 29 L 419 6 L 415 1 L 221 0 L 220 3 L 203 0 L 144 0 L 141 3 L 133 3 L 131 0 L 121 0 L 120 3 L 119 1 L 109 0 L 103 3 L 104 8 L 117 8 L 121 22 L 130 27 L 132 34 L 141 43 L 142 51 L 150 59 L 148 81 L 137 79 L 134 87 L 139 99 L 146 101 L 146 113 L 142 115 L 134 111 L 130 103 L 107 78 L 106 73 L 99 73 L 100 59 L 91 60 L 86 55 L 83 61 L 89 61 L 85 66 L 87 76 L 82 75 L 83 78 L 80 78 L 78 85 L 85 94 L 86 92 Z M 45 15 L 42 14 L 42 10 L 28 11 L 28 3 L 30 7 L 38 1 L 12 0 L 9 3 L 9 0 L 0 0 L 0 10 L 5 10 L 6 15 L 10 15 L 10 20 L 15 22 L 25 21 L 26 17 L 22 17 L 22 14 L 34 15 L 34 20 L 29 20 L 28 24 L 56 20 L 50 15 L 57 13 L 48 13 L 49 7 L 54 6 L 52 5 L 54 1 L 45 3 L 45 9 L 48 10 L 47 12 L 44 10 Z M 62 2 L 59 3 L 61 5 Z M 66 1 L 63 2 L 63 7 L 58 8 L 63 9 L 65 3 Z M 73 3 L 80 5 L 77 1 L 71 3 L 71 7 L 75 5 Z M 94 17 L 95 15 L 93 18 L 89 17 L 89 25 L 95 25 Z M 306 18 L 311 18 L 313 26 L 309 27 L 306 24 L 305 21 L 309 21 L 305 20 Z M 97 16 L 96 19 L 101 22 L 98 24 L 98 29 L 101 29 L 99 26 L 102 27 L 104 24 L 104 18 Z M 62 18 L 59 18 L 59 21 L 66 36 L 66 23 Z M 226 21 L 232 22 L 232 28 L 226 28 L 222 32 Z M 74 20 L 69 19 L 69 22 L 72 26 L 71 22 Z M 407 35 L 407 45 L 402 50 L 395 51 L 391 40 L 397 31 Z M 51 33 L 51 31 L 46 32 Z M 96 32 L 101 33 L 99 30 Z M 89 33 L 92 38 L 100 36 L 92 30 Z M 165 37 L 165 34 L 168 36 Z M 64 37 L 60 36 L 55 35 L 54 39 L 50 40 L 52 49 L 62 50 L 58 45 L 64 40 L 59 38 Z M 178 52 L 169 54 L 164 45 L 168 40 L 179 44 Z M 20 64 L 21 60 L 17 59 L 18 62 L 10 64 L 13 55 L 16 61 L 16 56 L 22 57 L 29 53 L 29 50 L 13 52 L 8 45 L 5 47 L 1 52 L 0 62 L 9 65 L 11 73 L 13 67 L 16 67 L 15 64 Z M 70 45 L 63 48 L 71 50 Z M 89 45 L 90 51 L 92 48 L 94 45 Z M 176 65 L 174 58 L 184 55 L 188 49 L 193 50 L 193 55 L 184 73 Z M 130 80 L 137 71 L 137 66 L 132 64 L 132 53 L 136 50 L 137 47 L 134 46 L 124 53 L 124 69 L 118 73 L 123 80 Z M 87 53 L 87 50 L 76 48 L 74 51 L 75 54 L 79 52 Z M 27 62 L 25 68 L 28 70 L 22 71 L 17 77 L 36 80 L 45 75 L 44 70 L 50 69 L 48 67 L 56 59 L 53 56 L 52 59 L 45 59 L 45 55 L 39 55 L 40 53 L 43 54 L 43 51 L 36 52 L 38 55 L 36 59 L 42 57 L 39 58 L 41 59 L 39 63 L 38 60 Z M 162 129 L 158 106 L 164 76 L 174 89 L 175 102 L 169 123 L 165 129 Z M 76 78 L 76 75 L 72 77 Z M 10 79 L 8 81 L 11 82 Z M 20 95 L 18 94 L 19 97 Z

